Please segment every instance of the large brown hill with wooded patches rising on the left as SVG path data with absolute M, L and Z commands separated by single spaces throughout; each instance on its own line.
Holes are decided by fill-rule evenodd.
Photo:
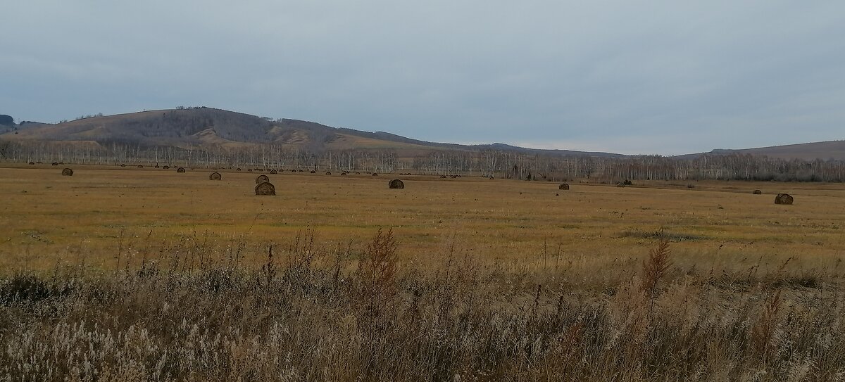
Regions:
M 323 150 L 395 150 L 402 156 L 422 156 L 433 150 L 504 150 L 522 153 L 577 154 L 621 157 L 619 154 L 569 150 L 534 150 L 510 145 L 455 145 L 410 139 L 384 132 L 332 128 L 295 119 L 270 120 L 209 107 L 134 112 L 86 117 L 57 124 L 34 124 L 7 132 L 5 139 L 66 141 L 108 145 L 190 148 L 202 145 L 243 147 L 277 144 Z

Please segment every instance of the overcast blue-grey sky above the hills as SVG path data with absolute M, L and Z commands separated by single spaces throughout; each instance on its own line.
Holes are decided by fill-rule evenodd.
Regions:
M 845 139 L 845 2 L 5 2 L 0 114 L 678 155 Z

